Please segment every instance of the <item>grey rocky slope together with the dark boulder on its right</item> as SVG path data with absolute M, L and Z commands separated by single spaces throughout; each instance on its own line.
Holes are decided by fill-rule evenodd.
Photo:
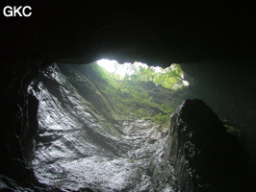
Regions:
M 245 151 L 201 100 L 184 101 L 163 127 L 124 113 L 102 81 L 89 66 L 53 64 L 40 73 L 28 89 L 38 102 L 26 156 L 36 177 L 22 184 L 1 176 L 0 189 L 253 191 Z

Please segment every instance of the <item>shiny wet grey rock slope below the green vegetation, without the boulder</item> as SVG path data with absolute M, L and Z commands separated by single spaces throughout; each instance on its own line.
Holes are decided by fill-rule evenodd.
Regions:
M 30 87 L 39 101 L 32 164 L 40 182 L 64 191 L 174 191 L 167 128 L 132 113 L 110 123 L 57 65 L 40 78 Z

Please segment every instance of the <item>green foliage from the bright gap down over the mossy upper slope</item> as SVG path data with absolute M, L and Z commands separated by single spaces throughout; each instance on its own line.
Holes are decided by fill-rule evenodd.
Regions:
M 171 98 L 173 92 L 185 86 L 178 64 L 166 69 L 130 64 L 124 68 L 123 75 L 115 73 L 117 69 L 109 72 L 98 64 L 91 66 L 107 82 L 103 89 L 124 113 L 136 113 L 164 125 L 181 102 L 181 99 Z

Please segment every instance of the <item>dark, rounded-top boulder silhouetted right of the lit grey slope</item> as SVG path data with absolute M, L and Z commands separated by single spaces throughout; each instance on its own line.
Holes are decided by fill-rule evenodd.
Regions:
M 170 164 L 181 191 L 243 191 L 246 154 L 201 100 L 186 100 L 171 116 Z

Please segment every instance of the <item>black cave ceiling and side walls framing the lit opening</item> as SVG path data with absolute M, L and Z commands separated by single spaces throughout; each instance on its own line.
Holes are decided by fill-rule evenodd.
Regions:
M 33 8 L 30 17 L 1 15 L 1 175 L 23 185 L 36 182 L 24 156 L 38 126 L 38 101 L 27 89 L 39 72 L 54 62 L 100 59 L 181 63 L 197 97 L 243 132 L 256 170 L 255 20 L 249 1 L 26 3 Z M 1 10 L 11 4 L 1 2 Z

